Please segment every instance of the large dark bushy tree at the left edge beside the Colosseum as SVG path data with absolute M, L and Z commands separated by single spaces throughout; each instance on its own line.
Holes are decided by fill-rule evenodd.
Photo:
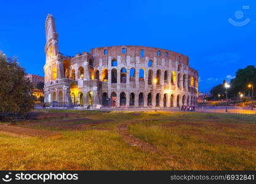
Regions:
M 0 115 L 13 113 L 25 115 L 34 108 L 33 85 L 25 77 L 25 70 L 17 59 L 6 58 L 0 52 Z

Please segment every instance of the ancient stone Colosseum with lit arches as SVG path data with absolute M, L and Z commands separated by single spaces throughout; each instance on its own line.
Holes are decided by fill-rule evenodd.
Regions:
M 188 66 L 187 56 L 130 45 L 65 56 L 52 15 L 45 28 L 44 96 L 50 107 L 196 106 L 198 71 Z

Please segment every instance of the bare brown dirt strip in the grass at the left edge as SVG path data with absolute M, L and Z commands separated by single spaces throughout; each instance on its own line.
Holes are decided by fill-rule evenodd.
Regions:
M 59 132 L 23 128 L 20 126 L 0 125 L 0 132 L 14 137 L 58 137 Z

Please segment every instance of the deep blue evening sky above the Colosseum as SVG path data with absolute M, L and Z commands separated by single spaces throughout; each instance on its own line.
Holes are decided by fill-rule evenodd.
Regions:
M 239 68 L 255 65 L 255 0 L 0 3 L 0 50 L 17 56 L 32 74 L 43 75 L 47 13 L 55 17 L 60 52 L 65 55 L 111 45 L 166 48 L 190 58 L 190 66 L 199 71 L 200 91 L 231 79 Z M 250 21 L 234 26 L 228 18 Z

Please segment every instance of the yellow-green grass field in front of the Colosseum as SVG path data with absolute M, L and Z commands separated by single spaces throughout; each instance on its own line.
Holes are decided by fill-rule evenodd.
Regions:
M 11 136 L 0 132 L 1 170 L 255 170 L 256 167 L 255 115 L 44 111 L 69 115 L 22 121 L 15 126 L 53 131 L 58 136 Z M 127 125 L 127 129 L 121 133 L 122 125 Z M 137 142 L 134 144 L 132 140 Z

